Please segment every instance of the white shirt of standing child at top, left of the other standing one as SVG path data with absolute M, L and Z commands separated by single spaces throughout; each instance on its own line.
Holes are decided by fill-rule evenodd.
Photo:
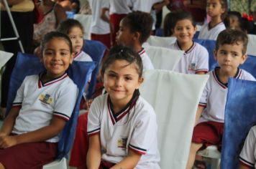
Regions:
M 92 34 L 110 34 L 109 23 L 101 19 L 101 9 L 109 9 L 109 2 L 102 0 L 88 0 L 91 11 L 91 33 Z

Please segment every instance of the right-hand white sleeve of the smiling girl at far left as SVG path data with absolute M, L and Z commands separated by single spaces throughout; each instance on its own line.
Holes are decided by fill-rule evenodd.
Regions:
M 61 86 L 53 107 L 53 115 L 68 121 L 76 105 L 77 95 L 78 87 L 73 82 Z

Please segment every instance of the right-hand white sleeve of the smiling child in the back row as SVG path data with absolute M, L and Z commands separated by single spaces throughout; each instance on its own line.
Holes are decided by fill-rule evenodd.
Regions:
M 203 46 L 201 46 L 200 53 L 198 54 L 198 62 L 196 72 L 208 72 L 209 71 L 209 52 Z

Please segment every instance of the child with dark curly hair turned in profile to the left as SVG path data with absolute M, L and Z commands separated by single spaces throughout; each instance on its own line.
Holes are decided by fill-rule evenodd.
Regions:
M 131 47 L 142 57 L 143 69 L 154 69 L 142 44 L 150 37 L 153 19 L 150 14 L 142 11 L 129 13 L 122 19 L 119 32 L 116 34 L 116 43 Z

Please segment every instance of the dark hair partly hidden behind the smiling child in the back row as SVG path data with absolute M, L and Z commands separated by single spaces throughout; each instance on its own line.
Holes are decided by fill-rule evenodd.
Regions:
M 173 35 L 175 23 L 175 12 L 169 12 L 168 14 L 166 14 L 165 19 L 163 21 L 164 37 L 170 37 Z

